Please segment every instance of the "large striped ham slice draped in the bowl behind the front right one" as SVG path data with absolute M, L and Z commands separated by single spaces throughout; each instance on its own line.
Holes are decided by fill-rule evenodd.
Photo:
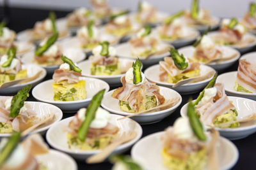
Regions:
M 211 97 L 207 102 L 200 101 L 195 107 L 200 114 L 200 119 L 206 125 L 212 125 L 216 117 L 227 113 L 229 110 L 236 110 L 225 94 L 224 85 L 216 83 L 214 87 L 217 89 L 216 96 Z

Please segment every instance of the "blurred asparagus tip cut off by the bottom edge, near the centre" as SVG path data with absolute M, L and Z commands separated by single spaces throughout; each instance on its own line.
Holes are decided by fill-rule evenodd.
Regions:
M 124 156 L 124 155 L 113 155 L 110 158 L 110 161 L 115 163 L 115 162 L 122 162 L 122 164 L 127 167 L 129 170 L 142 170 L 139 164 L 134 162 L 134 160 L 131 159 L 129 156 Z

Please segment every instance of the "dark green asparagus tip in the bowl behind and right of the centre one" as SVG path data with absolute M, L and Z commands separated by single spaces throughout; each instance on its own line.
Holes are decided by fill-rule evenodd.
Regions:
M 170 53 L 172 55 L 173 62 L 178 69 L 184 70 L 188 67 L 188 62 L 183 54 L 180 55 L 174 48 L 171 48 Z

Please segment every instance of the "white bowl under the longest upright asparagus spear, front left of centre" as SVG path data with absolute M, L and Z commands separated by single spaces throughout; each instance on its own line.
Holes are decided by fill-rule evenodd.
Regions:
M 126 150 L 129 150 L 138 139 L 141 138 L 142 135 L 142 129 L 140 125 L 130 118 L 125 118 L 123 120 L 117 120 L 118 118 L 121 118 L 120 115 L 114 115 L 111 114 L 111 117 L 109 119 L 109 122 L 113 125 L 116 125 L 120 130 L 118 134 L 122 134 L 122 132 L 129 132 L 129 131 L 135 131 L 136 138 L 132 139 L 131 141 L 124 143 L 120 146 L 118 146 L 113 153 L 123 153 Z M 47 142 L 57 150 L 60 150 L 61 152 L 68 153 L 72 157 L 78 160 L 85 160 L 86 158 L 90 157 L 91 155 L 95 153 L 99 153 L 100 150 L 76 150 L 68 148 L 67 143 L 67 131 L 63 130 L 68 126 L 68 123 L 72 120 L 73 117 L 65 118 L 58 122 L 58 124 L 54 125 L 49 131 L 47 131 L 46 139 Z

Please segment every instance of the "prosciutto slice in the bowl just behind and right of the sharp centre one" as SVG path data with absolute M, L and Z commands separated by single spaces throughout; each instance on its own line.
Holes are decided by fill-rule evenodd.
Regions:
M 171 76 L 176 76 L 181 73 L 187 73 L 189 71 L 196 70 L 200 67 L 200 63 L 191 62 L 189 63 L 189 66 L 186 69 L 180 70 L 175 66 L 172 57 L 164 57 L 164 61 L 160 61 L 159 65 L 160 65 L 160 74 L 159 74 L 160 81 L 166 81 L 168 78 L 168 74 L 170 74 Z

